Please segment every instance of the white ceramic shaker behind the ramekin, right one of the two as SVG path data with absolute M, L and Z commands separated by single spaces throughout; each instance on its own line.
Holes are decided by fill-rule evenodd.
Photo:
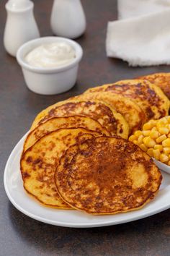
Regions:
M 78 38 L 86 30 L 86 17 L 80 0 L 54 0 L 50 18 L 53 33 Z

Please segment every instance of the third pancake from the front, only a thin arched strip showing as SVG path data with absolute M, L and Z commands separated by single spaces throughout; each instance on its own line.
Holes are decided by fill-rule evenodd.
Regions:
M 107 129 L 102 127 L 98 121 L 91 119 L 87 116 L 67 116 L 67 117 L 53 117 L 48 119 L 44 123 L 40 124 L 34 130 L 32 130 L 27 139 L 24 142 L 24 151 L 30 148 L 35 144 L 44 135 L 47 135 L 49 132 L 53 132 L 56 129 L 60 128 L 85 128 L 92 131 L 101 132 L 104 135 L 109 135 Z

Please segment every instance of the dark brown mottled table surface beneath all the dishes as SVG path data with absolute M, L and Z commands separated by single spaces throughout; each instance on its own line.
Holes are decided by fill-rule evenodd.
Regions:
M 87 18 L 86 34 L 77 40 L 84 48 L 76 85 L 67 93 L 36 95 L 24 84 L 22 72 L 3 46 L 6 12 L 1 0 L 0 24 L 0 255 L 170 255 L 170 210 L 118 226 L 69 229 L 50 226 L 20 213 L 4 192 L 4 166 L 9 153 L 29 129 L 42 108 L 105 82 L 151 72 L 169 72 L 168 66 L 132 68 L 117 59 L 107 59 L 104 48 L 108 20 L 116 20 L 115 0 L 82 0 Z M 35 17 L 41 35 L 52 35 L 52 0 L 35 1 Z

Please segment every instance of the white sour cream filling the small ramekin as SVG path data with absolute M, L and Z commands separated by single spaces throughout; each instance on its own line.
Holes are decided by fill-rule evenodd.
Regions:
M 68 43 L 56 42 L 37 46 L 25 56 L 32 67 L 61 67 L 76 58 L 76 51 Z

